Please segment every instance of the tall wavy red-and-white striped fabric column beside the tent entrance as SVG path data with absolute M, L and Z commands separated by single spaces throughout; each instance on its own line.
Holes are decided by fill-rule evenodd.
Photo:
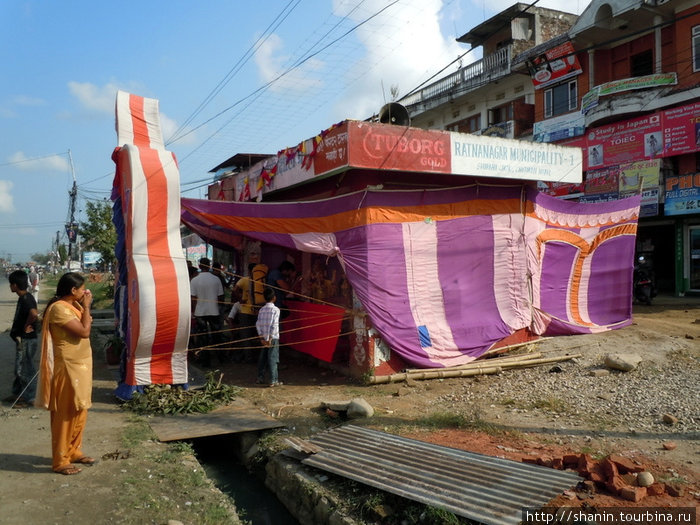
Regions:
M 116 118 L 128 274 L 126 383 L 186 383 L 190 282 L 177 161 L 164 147 L 157 100 L 119 91 Z

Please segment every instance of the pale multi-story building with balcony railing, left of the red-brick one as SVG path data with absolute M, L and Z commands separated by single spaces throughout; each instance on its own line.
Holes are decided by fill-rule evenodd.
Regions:
M 399 100 L 411 125 L 505 138 L 529 137 L 535 90 L 513 70 L 523 51 L 565 33 L 576 15 L 517 3 L 457 40 L 483 58 Z

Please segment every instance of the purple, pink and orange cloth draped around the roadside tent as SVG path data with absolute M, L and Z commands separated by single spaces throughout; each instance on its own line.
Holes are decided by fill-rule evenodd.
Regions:
M 305 202 L 182 199 L 182 220 L 219 245 L 245 236 L 338 257 L 389 347 L 413 366 L 443 367 L 521 329 L 628 325 L 639 203 L 477 184 Z

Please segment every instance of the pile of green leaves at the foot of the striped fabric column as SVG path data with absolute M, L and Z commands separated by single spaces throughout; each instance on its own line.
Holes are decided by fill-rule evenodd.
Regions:
M 241 391 L 240 387 L 222 384 L 224 375 L 215 377 L 218 371 L 206 375 L 204 387 L 184 390 L 171 385 L 150 385 L 141 394 L 135 392 L 122 408 L 137 414 L 205 414 L 229 404 Z

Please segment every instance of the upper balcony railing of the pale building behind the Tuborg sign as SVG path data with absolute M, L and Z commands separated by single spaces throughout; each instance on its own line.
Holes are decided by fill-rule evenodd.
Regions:
M 463 95 L 508 75 L 511 58 L 511 46 L 503 47 L 495 53 L 425 86 L 420 91 L 400 99 L 399 103 L 406 106 L 409 113 L 420 113 L 428 109 L 428 105 L 433 106 L 442 102 L 445 97 Z M 420 107 L 421 104 L 424 107 Z

